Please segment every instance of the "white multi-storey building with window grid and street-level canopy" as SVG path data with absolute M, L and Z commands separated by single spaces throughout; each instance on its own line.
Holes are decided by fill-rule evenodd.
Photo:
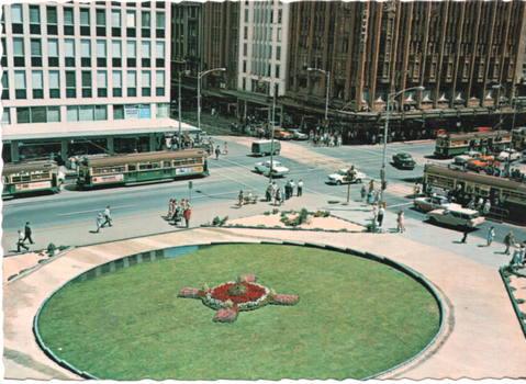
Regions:
M 160 148 L 177 129 L 167 4 L 3 5 L 4 160 Z

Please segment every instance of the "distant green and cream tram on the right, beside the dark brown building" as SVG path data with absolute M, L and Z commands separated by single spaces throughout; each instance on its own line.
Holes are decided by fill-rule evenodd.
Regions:
M 489 154 L 508 148 L 512 143 L 512 134 L 507 131 L 481 131 L 467 134 L 447 134 L 437 137 L 435 156 L 452 157 L 469 150 L 482 153 L 483 148 Z

